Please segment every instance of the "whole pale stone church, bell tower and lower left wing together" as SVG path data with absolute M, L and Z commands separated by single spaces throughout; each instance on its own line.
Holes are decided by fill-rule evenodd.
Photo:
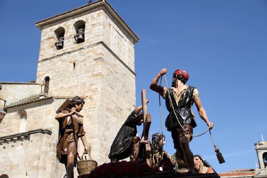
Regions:
M 0 82 L 0 177 L 64 177 L 56 160 L 56 110 L 85 100 L 90 154 L 108 162 L 110 146 L 135 107 L 138 36 L 106 0 L 36 22 L 41 30 L 36 81 Z M 79 152 L 83 152 L 79 141 Z M 76 169 L 75 176 L 77 176 Z

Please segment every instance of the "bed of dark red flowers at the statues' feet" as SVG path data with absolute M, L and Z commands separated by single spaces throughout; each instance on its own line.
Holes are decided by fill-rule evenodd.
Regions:
M 160 172 L 159 169 L 151 168 L 147 163 L 121 161 L 104 163 L 97 166 L 90 174 L 78 176 L 78 178 L 140 177 L 157 172 Z

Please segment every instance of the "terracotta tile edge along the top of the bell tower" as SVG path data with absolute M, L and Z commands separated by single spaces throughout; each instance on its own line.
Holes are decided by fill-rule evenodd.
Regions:
M 71 10 L 68 10 L 68 11 L 66 11 L 66 12 L 62 12 L 62 13 L 60 13 L 60 14 L 57 14 L 57 15 L 54 15 L 54 16 L 52 16 L 52 17 L 46 18 L 46 19 L 44 19 L 44 20 L 40 20 L 40 21 L 38 21 L 38 22 L 35 22 L 35 24 L 38 24 L 38 23 L 40 23 L 40 22 L 44 22 L 44 21 L 46 21 L 46 20 L 49 20 L 49 19 L 58 17 L 58 16 L 63 15 L 63 14 L 67 14 L 67 13 L 69 13 L 69 12 L 72 12 L 72 11 L 77 10 L 77 9 L 81 9 L 81 8 L 83 8 L 83 7 L 90 6 L 90 5 L 95 4 L 95 3 L 97 3 L 97 2 L 100 2 L 100 1 L 105 1 L 105 3 L 108 4 L 108 6 L 115 12 L 116 15 L 118 15 L 118 17 L 123 21 L 123 23 L 124 23 L 124 24 L 129 28 L 129 30 L 135 35 L 135 37 L 138 38 L 138 40 L 140 40 L 139 37 L 135 34 L 135 32 L 132 31 L 132 29 L 131 29 L 131 28 L 127 25 L 127 23 L 121 18 L 121 16 L 119 16 L 119 14 L 115 11 L 115 9 L 113 9 L 113 7 L 108 3 L 107 0 L 97 0 L 97 1 L 94 1 L 94 2 L 91 2 L 91 3 L 88 3 L 88 4 L 85 4 L 85 5 L 81 6 L 81 7 L 77 7 L 77 8 L 75 8 L 75 9 L 71 9 Z

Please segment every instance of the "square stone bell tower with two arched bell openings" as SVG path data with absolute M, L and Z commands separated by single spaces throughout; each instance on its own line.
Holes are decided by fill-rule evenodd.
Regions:
M 112 141 L 135 107 L 134 45 L 138 36 L 106 0 L 35 25 L 41 30 L 36 82 L 57 107 L 62 98 L 77 95 L 85 99 L 81 114 L 92 159 L 98 164 L 108 162 Z M 55 114 L 57 107 L 49 112 Z M 52 133 L 57 134 L 57 121 L 51 124 Z M 57 139 L 52 142 L 56 145 Z M 78 147 L 81 154 L 81 142 Z

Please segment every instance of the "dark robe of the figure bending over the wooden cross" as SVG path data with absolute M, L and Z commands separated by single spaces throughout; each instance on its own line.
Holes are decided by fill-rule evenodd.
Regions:
M 131 155 L 132 140 L 137 134 L 136 126 L 140 123 L 139 118 L 141 114 L 137 113 L 134 109 L 128 116 L 110 147 L 109 159 L 117 158 L 118 160 L 122 160 Z

